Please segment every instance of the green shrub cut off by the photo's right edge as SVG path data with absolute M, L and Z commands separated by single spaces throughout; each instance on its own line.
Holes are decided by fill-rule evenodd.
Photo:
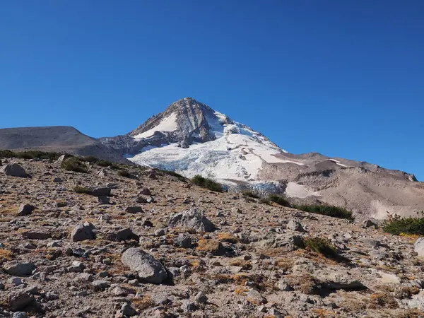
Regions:
M 394 216 L 389 215 L 389 218 L 384 221 L 382 229 L 384 232 L 394 235 L 424 235 L 424 216 L 420 218 L 413 218 L 412 216 L 402 218 L 397 214 Z

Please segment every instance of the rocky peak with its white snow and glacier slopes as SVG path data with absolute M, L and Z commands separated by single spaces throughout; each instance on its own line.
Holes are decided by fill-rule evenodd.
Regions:
M 174 102 L 129 136 L 145 144 L 129 160 L 187 177 L 252 181 L 264 163 L 288 162 L 266 136 L 193 98 Z

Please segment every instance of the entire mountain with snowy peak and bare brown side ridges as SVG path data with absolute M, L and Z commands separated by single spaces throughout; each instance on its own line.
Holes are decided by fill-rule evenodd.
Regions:
M 94 139 L 66 126 L 0 129 L 0 148 L 66 151 L 217 179 L 230 191 L 285 194 L 357 217 L 424 211 L 424 183 L 406 172 L 319 153 L 288 153 L 193 98 L 172 103 L 123 136 Z

